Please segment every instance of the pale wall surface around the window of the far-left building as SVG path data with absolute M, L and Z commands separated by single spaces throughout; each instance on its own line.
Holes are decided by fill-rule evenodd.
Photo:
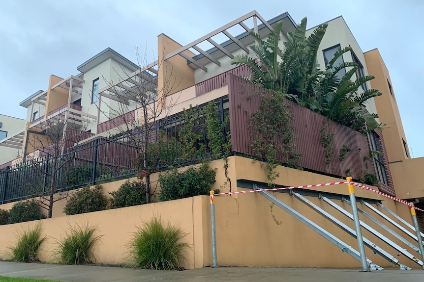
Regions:
M 14 136 L 25 129 L 25 120 L 5 115 L 0 115 L 0 122 L 3 123 L 0 130 L 7 132 L 7 137 Z M 17 158 L 22 150 L 0 146 L 0 164 Z

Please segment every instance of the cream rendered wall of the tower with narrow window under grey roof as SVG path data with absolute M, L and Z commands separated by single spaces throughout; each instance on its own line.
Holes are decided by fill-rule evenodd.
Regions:
M 122 68 L 124 70 L 122 70 Z M 125 77 L 126 74 L 132 73 L 131 70 L 119 65 L 119 63 L 112 58 L 109 58 L 97 66 L 93 67 L 86 73 L 84 73 L 85 83 L 83 85 L 82 97 L 81 97 L 81 106 L 83 107 L 83 112 L 88 112 L 91 115 L 97 116 L 98 113 L 98 102 L 91 103 L 92 95 L 92 84 L 93 80 L 99 79 L 99 89 L 106 87 L 111 82 L 117 82 L 119 76 Z M 125 74 L 126 73 L 126 74 Z M 108 106 L 109 105 L 109 106 Z M 100 114 L 100 123 L 109 120 L 116 116 L 116 111 L 118 109 L 118 103 L 111 101 L 110 99 L 102 97 L 101 111 L 105 114 Z M 85 130 L 90 130 L 95 133 L 97 131 L 97 122 L 91 121 L 87 124 Z

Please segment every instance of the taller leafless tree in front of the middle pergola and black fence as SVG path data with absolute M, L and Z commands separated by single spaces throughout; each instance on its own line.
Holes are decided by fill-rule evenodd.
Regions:
M 108 81 L 103 77 L 109 93 L 99 94 L 97 107 L 99 117 L 104 115 L 109 119 L 110 128 L 115 128 L 115 134 L 125 136 L 128 145 L 125 147 L 126 154 L 137 168 L 139 179 L 145 178 L 146 200 L 150 203 L 150 175 L 157 171 L 159 151 L 163 149 L 157 144 L 164 144 L 160 138 L 166 138 L 158 138 L 157 121 L 166 118 L 177 103 L 179 94 L 174 92 L 181 79 L 173 75 L 172 68 L 165 68 L 161 85 L 158 85 L 158 73 L 163 62 L 149 64 L 146 53 L 140 56 L 137 49 L 136 55 L 137 71 L 130 74 L 121 66 L 120 70 L 115 70 L 119 81 Z M 101 97 L 108 98 L 109 103 L 102 103 Z

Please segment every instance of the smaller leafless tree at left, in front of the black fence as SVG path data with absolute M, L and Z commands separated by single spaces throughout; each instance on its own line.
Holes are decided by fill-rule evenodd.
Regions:
M 52 217 L 54 203 L 69 195 L 70 187 L 63 185 L 63 180 L 74 154 L 65 149 L 87 137 L 84 130 L 68 126 L 63 116 L 46 120 L 41 128 L 27 132 L 27 149 L 31 147 L 33 152 L 25 156 L 27 174 L 21 175 L 21 182 L 30 195 L 39 199 L 40 207 L 47 209 L 48 218 Z

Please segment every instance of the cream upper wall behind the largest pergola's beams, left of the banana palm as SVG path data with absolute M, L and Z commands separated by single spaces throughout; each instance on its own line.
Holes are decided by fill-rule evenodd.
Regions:
M 281 50 L 284 49 L 284 42 L 287 42 L 287 36 L 281 32 L 281 37 L 280 37 L 280 43 L 278 44 L 279 48 Z M 267 40 L 267 37 L 263 37 L 262 40 Z M 253 51 L 250 50 L 250 46 L 254 45 L 256 42 L 252 42 L 251 44 L 247 45 L 247 49 L 249 50 L 249 54 L 252 55 Z M 245 54 L 245 52 L 242 49 L 237 49 L 236 51 L 231 53 L 234 56 L 237 55 L 241 55 L 241 54 Z M 211 77 L 215 77 L 217 75 L 220 75 L 222 73 L 225 73 L 229 70 L 234 69 L 236 66 L 231 64 L 231 59 L 224 55 L 220 58 L 217 59 L 220 63 L 221 66 L 219 67 L 218 65 L 216 65 L 214 62 L 209 62 L 208 64 L 205 65 L 205 67 L 208 69 L 208 72 L 203 71 L 202 69 L 198 68 L 196 70 L 194 70 L 194 83 L 199 83 L 202 81 L 205 81 Z

